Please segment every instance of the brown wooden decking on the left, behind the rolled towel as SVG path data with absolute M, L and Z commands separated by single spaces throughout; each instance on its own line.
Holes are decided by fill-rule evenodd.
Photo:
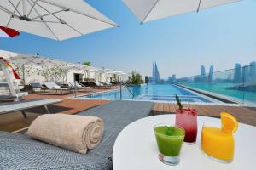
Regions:
M 104 91 L 109 89 L 95 89 L 96 91 Z M 89 94 L 89 92 L 78 93 L 78 95 Z M 29 94 L 26 99 L 62 99 L 61 103 L 55 105 L 48 105 L 49 111 L 51 113 L 65 113 L 65 114 L 75 114 L 79 111 L 88 110 L 97 105 L 102 105 L 108 103 L 108 100 L 94 100 L 94 99 L 68 99 L 72 97 L 73 94 Z M 19 129 L 28 127 L 33 120 L 38 116 L 45 114 L 46 111 L 44 107 L 36 107 L 33 109 L 26 110 L 27 118 L 24 118 L 20 111 L 12 112 L 9 114 L 0 115 L 0 131 L 14 132 Z

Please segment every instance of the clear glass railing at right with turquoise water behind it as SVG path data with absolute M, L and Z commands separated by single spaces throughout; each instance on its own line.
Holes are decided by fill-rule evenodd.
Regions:
M 256 65 L 183 77 L 177 84 L 195 88 L 239 104 L 256 105 Z

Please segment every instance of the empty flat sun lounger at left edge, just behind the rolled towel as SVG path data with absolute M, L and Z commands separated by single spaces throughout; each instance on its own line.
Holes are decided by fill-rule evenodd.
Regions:
M 60 103 L 61 101 L 61 99 L 28 99 L 16 102 L 2 103 L 0 104 L 0 115 L 14 111 L 21 111 L 23 116 L 26 118 L 26 112 L 24 110 L 38 106 L 44 106 L 46 112 L 49 113 L 47 105 Z

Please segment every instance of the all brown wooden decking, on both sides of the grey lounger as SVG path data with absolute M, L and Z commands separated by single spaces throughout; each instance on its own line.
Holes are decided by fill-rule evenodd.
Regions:
M 96 91 L 106 91 L 109 89 L 96 89 Z M 78 95 L 90 94 L 78 93 Z M 49 105 L 51 113 L 75 114 L 79 111 L 88 110 L 97 105 L 106 104 L 109 100 L 100 99 L 71 99 L 73 94 L 55 95 L 55 94 L 29 94 L 26 99 L 63 99 L 61 103 Z M 242 123 L 256 126 L 256 109 L 245 108 L 241 106 L 225 105 L 184 105 L 185 107 L 195 108 L 198 115 L 219 117 L 221 111 L 226 111 L 236 116 L 237 120 Z M 172 103 L 155 103 L 152 110 L 153 115 L 174 113 L 177 109 L 176 104 Z M 31 122 L 38 116 L 44 114 L 44 107 L 37 107 L 26 110 L 27 118 L 24 118 L 20 112 L 13 112 L 0 116 L 0 131 L 19 132 L 20 129 L 28 127 Z

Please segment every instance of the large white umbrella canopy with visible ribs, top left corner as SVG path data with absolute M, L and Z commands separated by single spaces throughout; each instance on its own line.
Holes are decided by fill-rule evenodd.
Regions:
M 55 40 L 117 26 L 83 0 L 1 0 L 0 25 Z

